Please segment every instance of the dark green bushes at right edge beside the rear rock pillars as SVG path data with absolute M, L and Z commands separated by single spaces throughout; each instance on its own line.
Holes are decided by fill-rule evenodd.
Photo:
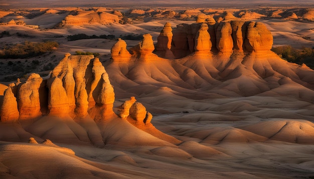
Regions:
M 301 49 L 296 49 L 288 46 L 278 46 L 271 49 L 278 55 L 281 55 L 283 59 L 297 63 L 306 64 L 308 67 L 314 69 L 314 47 L 308 48 L 303 47 Z

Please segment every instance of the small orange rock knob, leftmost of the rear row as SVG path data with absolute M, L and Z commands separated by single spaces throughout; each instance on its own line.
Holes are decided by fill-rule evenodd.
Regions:
M 111 47 L 111 58 L 113 61 L 127 61 L 131 54 L 126 49 L 126 42 L 121 38 Z

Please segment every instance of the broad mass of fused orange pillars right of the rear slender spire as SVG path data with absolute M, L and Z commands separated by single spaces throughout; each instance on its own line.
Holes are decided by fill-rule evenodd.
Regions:
M 207 24 L 209 36 L 202 30 L 206 28 L 203 24 Z M 261 22 L 254 21 L 224 20 L 215 24 L 206 21 L 190 25 L 180 24 L 172 32 L 171 50 L 175 58 L 182 58 L 194 52 L 197 54 L 197 51 L 202 48 L 208 49 L 211 44 L 210 50 L 214 55 L 230 56 L 233 52 L 261 54 L 269 51 L 273 43 L 267 27 Z M 197 41 L 201 43 L 195 44 Z

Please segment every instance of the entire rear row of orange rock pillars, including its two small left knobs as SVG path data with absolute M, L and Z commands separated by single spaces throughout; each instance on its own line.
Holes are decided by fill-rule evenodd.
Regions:
M 204 14 L 199 17 L 205 18 Z M 167 59 L 182 58 L 191 53 L 229 57 L 233 52 L 264 53 L 271 49 L 272 42 L 270 31 L 261 22 L 225 20 L 214 24 L 205 20 L 205 23 L 179 24 L 174 29 L 167 22 L 158 36 L 155 50 L 151 35 L 144 34 L 143 40 L 130 48 L 131 57 L 121 39 L 111 48 L 111 56 L 113 61 L 152 60 L 156 59 L 155 54 Z

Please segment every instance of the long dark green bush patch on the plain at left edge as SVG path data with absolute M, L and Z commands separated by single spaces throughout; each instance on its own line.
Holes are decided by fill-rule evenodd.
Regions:
M 25 41 L 24 43 L 5 46 L 0 52 L 0 58 L 27 58 L 38 56 L 47 51 L 54 50 L 54 47 L 59 47 L 59 43 L 55 41 L 40 43 Z

